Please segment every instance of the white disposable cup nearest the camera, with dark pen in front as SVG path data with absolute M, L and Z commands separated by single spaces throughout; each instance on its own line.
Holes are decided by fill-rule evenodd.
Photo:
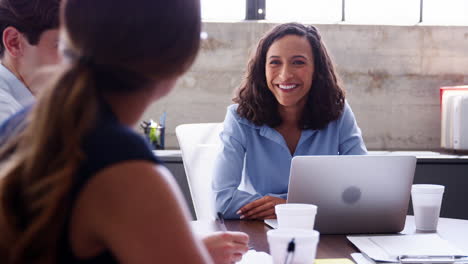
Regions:
M 292 239 L 294 251 L 288 253 L 288 245 Z M 267 232 L 267 240 L 273 264 L 311 264 L 315 261 L 319 232 L 307 229 L 274 229 Z

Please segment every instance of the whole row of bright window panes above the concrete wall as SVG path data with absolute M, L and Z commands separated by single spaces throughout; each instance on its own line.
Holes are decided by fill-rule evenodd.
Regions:
M 264 1 L 265 19 L 272 22 L 337 23 L 344 18 L 349 24 L 416 25 L 422 2 L 423 24 L 468 25 L 468 0 Z M 240 21 L 246 0 L 201 0 L 201 9 L 204 21 Z

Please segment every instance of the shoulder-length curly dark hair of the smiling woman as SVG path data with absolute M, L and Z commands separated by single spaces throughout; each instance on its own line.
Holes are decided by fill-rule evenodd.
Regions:
M 314 56 L 312 88 L 307 95 L 299 127 L 323 129 L 341 116 L 345 104 L 345 92 L 317 28 L 298 23 L 278 25 L 260 40 L 255 54 L 249 60 L 245 78 L 233 99 L 239 104 L 237 113 L 255 125 L 266 124 L 270 127 L 281 125 L 278 101 L 267 86 L 265 63 L 270 46 L 286 35 L 307 38 Z

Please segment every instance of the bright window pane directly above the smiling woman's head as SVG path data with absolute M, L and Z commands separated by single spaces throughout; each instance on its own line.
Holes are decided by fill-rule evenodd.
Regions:
M 342 0 L 266 0 L 266 19 L 272 21 L 341 21 Z

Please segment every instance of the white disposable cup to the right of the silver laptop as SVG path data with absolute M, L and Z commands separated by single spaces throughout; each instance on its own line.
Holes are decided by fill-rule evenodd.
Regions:
M 436 231 L 445 187 L 435 184 L 414 184 L 411 198 L 417 230 Z

